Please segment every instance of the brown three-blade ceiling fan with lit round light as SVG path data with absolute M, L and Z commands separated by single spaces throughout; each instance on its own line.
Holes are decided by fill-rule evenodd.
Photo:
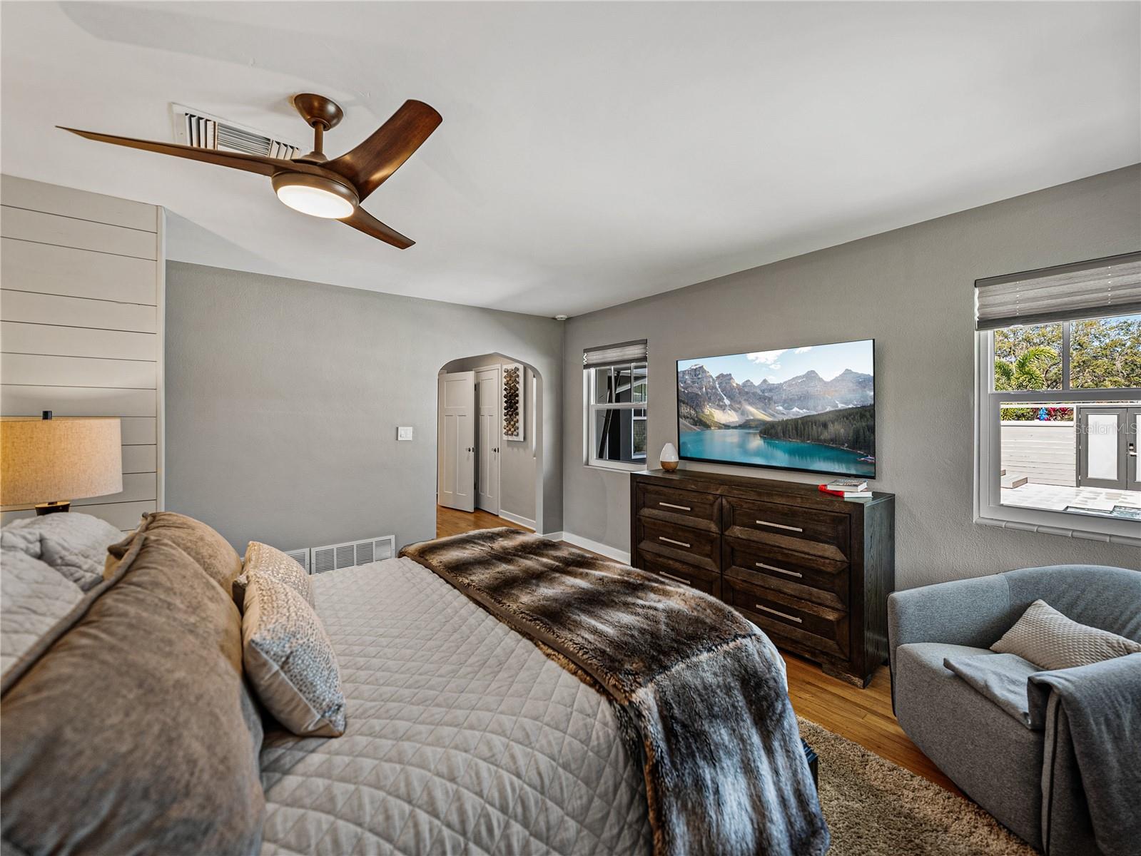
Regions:
M 443 121 L 439 113 L 423 102 L 406 100 L 361 145 L 340 158 L 329 160 L 322 151 L 324 135 L 345 118 L 343 111 L 331 98 L 311 92 L 294 96 L 293 106 L 313 128 L 314 134 L 313 151 L 293 160 L 218 152 L 57 127 L 100 143 L 114 143 L 269 176 L 277 199 L 297 211 L 340 220 L 400 250 L 412 247 L 414 241 L 386 226 L 361 208 L 361 203 L 436 130 Z

